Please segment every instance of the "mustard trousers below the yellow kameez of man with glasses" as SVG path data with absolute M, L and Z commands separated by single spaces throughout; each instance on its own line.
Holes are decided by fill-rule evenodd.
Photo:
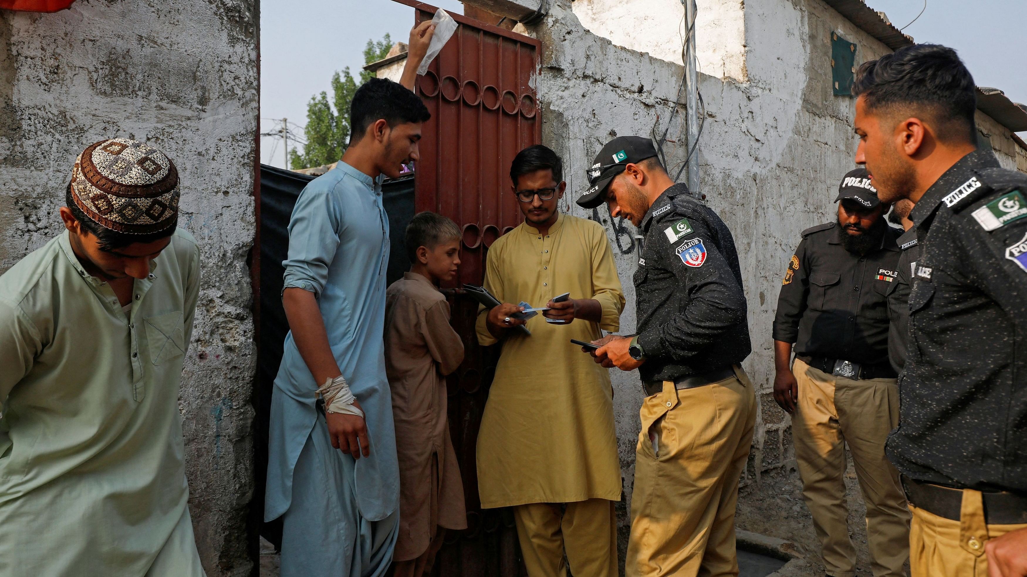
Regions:
M 529 577 L 617 577 L 617 520 L 613 501 L 529 503 L 514 507 L 517 536 Z M 566 506 L 561 514 L 560 509 Z

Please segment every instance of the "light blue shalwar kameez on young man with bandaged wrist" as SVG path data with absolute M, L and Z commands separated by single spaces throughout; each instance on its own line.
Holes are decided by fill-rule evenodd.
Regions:
M 329 343 L 367 419 L 371 456 L 334 449 L 293 333 L 271 398 L 264 519 L 283 516 L 281 577 L 379 577 L 398 530 L 400 472 L 385 377 L 388 217 L 380 180 L 340 162 L 303 189 L 284 286 L 317 295 Z

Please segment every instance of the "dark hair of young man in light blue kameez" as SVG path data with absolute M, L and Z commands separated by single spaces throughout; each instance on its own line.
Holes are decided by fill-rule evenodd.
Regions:
M 431 113 L 421 97 L 403 84 L 385 78 L 372 78 L 356 89 L 349 104 L 349 127 L 352 130 L 349 141 L 359 141 L 368 127 L 382 118 L 391 127 L 408 122 L 426 122 Z

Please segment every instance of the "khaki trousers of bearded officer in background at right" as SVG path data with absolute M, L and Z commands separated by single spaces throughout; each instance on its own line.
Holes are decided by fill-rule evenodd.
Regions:
M 795 460 L 827 574 L 855 575 L 843 479 L 847 442 L 867 504 L 874 577 L 904 575 L 910 512 L 899 471 L 884 455 L 888 432 L 899 424 L 896 379 L 852 380 L 814 369 L 800 359 L 792 372 L 799 383 L 799 403 L 792 413 Z

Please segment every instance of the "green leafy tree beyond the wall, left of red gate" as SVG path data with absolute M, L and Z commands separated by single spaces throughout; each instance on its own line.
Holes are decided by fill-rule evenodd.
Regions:
M 364 64 L 384 58 L 391 48 L 392 39 L 388 34 L 377 42 L 368 40 L 364 48 Z M 303 129 L 307 143 L 303 147 L 303 154 L 296 149 L 289 151 L 290 166 L 294 169 L 309 168 L 331 164 L 342 158 L 342 153 L 349 145 L 349 104 L 353 100 L 356 88 L 374 77 L 374 73 L 362 70 L 357 84 L 349 67 L 346 67 L 332 75 L 331 101 L 326 91 L 310 97 L 307 102 L 307 125 Z

